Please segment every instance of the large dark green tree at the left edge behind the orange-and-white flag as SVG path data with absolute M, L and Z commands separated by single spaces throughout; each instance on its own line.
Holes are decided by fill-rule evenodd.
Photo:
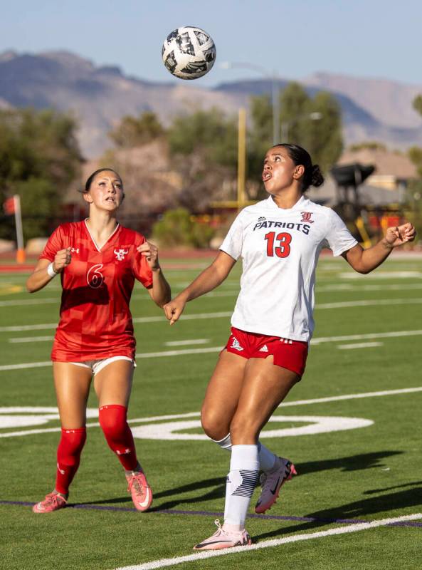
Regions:
M 81 162 L 75 120 L 53 110 L 0 111 L 0 200 L 19 194 L 26 239 L 46 235 Z M 3 220 L 0 237 L 14 238 Z

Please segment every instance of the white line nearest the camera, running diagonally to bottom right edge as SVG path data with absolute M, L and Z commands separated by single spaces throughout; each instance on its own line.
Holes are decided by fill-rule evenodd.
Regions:
M 184 562 L 195 562 L 213 556 L 226 556 L 228 554 L 242 554 L 248 553 L 253 550 L 260 550 L 263 548 L 273 548 L 281 546 L 282 544 L 291 544 L 292 542 L 299 542 L 302 540 L 320 539 L 323 537 L 332 537 L 339 534 L 349 534 L 350 532 L 359 532 L 362 530 L 371 530 L 378 527 L 387 527 L 389 524 L 395 522 L 414 521 L 422 519 L 422 513 L 406 514 L 402 517 L 394 517 L 389 519 L 380 519 L 372 522 L 362 522 L 358 524 L 348 524 L 346 527 L 336 527 L 335 529 L 322 530 L 318 532 L 306 532 L 303 534 L 293 534 L 290 537 L 283 539 L 264 540 L 252 546 L 235 546 L 226 550 L 209 550 L 197 552 L 196 554 L 187 554 L 186 556 L 177 556 L 175 558 L 163 558 L 161 560 L 154 560 L 145 562 L 144 564 L 137 564 L 135 566 L 122 566 L 116 570 L 154 570 L 158 568 L 165 568 L 166 566 L 176 566 L 176 564 L 183 564 Z

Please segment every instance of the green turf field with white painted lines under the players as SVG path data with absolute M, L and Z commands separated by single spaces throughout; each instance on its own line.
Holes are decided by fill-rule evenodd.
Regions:
M 175 261 L 162 261 L 174 292 L 206 265 L 183 263 L 166 269 Z M 283 487 L 270 517 L 248 520 L 258 549 L 192 554 L 223 510 L 229 455 L 198 438 L 198 412 L 228 337 L 239 274 L 235 267 L 172 327 L 141 286 L 134 291 L 138 368 L 129 418 L 154 490 L 152 511 L 132 509 L 120 464 L 93 425 L 73 507 L 45 515 L 33 514 L 30 504 L 54 483 L 59 423 L 49 409 L 48 361 L 60 284 L 30 296 L 25 275 L 0 274 L 1 568 L 147 570 L 182 557 L 176 567 L 190 570 L 421 569 L 422 257 L 400 255 L 368 276 L 341 258 L 320 261 L 307 371 L 268 424 L 276 433 L 263 440 L 293 460 L 299 475 Z M 347 395 L 360 397 L 341 398 Z M 95 413 L 94 395 L 89 407 Z M 321 432 L 312 432 L 315 426 Z

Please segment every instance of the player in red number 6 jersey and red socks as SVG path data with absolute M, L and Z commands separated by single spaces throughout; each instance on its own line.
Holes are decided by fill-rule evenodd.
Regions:
M 159 266 L 157 247 L 117 222 L 117 209 L 124 198 L 117 172 L 109 168 L 93 172 L 83 197 L 89 204 L 89 217 L 60 225 L 53 232 L 26 283 L 34 293 L 60 274 L 63 287 L 51 353 L 62 427 L 56 486 L 34 505 L 33 512 L 65 507 L 85 444 L 92 379 L 102 431 L 125 469 L 134 506 L 145 511 L 152 503 L 152 491 L 127 424 L 136 366 L 129 303 L 135 279 L 160 307 L 169 301 L 171 292 Z

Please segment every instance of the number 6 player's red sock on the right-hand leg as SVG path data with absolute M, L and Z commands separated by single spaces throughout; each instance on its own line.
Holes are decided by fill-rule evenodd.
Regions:
M 112 451 L 127 471 L 137 468 L 138 460 L 132 432 L 126 420 L 127 408 L 124 405 L 103 405 L 100 408 L 100 426 Z

